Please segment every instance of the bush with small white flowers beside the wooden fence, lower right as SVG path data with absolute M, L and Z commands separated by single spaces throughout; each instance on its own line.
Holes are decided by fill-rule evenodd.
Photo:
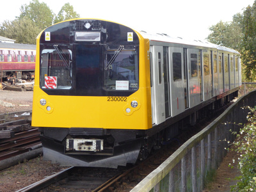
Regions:
M 256 106 L 246 107 L 249 113 L 246 116 L 248 122 L 237 134 L 238 141 L 234 142 L 237 152 L 241 154 L 238 168 L 241 176 L 239 182 L 232 186 L 232 191 L 256 191 Z

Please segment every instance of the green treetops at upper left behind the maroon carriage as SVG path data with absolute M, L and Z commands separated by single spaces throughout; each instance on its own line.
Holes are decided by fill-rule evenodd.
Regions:
M 69 3 L 62 6 L 56 16 L 49 6 L 32 0 L 29 4 L 24 4 L 20 8 L 20 16 L 15 20 L 4 20 L 0 24 L 0 35 L 16 40 L 19 44 L 36 44 L 36 36 L 40 31 L 51 26 L 55 22 L 80 17 L 74 12 L 74 8 Z

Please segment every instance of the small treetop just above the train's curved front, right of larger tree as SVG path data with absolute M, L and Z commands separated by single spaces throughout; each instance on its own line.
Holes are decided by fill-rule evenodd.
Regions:
M 74 12 L 74 8 L 69 3 L 64 4 L 61 7 L 60 12 L 54 19 L 54 23 L 61 22 L 63 20 L 79 18 L 80 15 Z

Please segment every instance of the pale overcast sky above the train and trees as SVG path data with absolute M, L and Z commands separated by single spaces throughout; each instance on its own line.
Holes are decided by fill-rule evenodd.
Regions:
M 1 1 L 0 23 L 20 15 L 22 4 L 31 0 Z M 39 0 L 55 13 L 65 3 L 74 6 L 81 18 L 107 19 L 149 33 L 167 33 L 188 39 L 204 40 L 209 27 L 232 21 L 236 13 L 253 4 L 254 0 Z

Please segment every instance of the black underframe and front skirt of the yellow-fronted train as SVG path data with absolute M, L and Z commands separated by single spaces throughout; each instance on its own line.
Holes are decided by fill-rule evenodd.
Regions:
M 238 88 L 230 90 L 148 130 L 40 127 L 44 159 L 61 166 L 117 168 L 134 164 L 145 159 L 153 147 L 161 147 L 237 95 Z

